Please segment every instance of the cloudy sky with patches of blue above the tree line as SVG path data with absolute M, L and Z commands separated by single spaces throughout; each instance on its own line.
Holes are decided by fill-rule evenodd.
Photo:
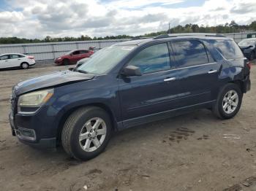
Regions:
M 140 35 L 256 20 L 256 0 L 0 0 L 0 36 Z

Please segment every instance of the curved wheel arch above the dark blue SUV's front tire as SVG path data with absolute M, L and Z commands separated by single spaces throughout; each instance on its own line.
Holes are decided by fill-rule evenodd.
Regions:
M 67 110 L 67 112 L 65 112 L 64 114 L 61 115 L 61 118 L 59 120 L 59 124 L 58 124 L 58 128 L 56 130 L 56 138 L 57 138 L 57 144 L 61 143 L 61 133 L 64 127 L 64 123 L 66 122 L 67 118 L 76 110 L 83 108 L 83 107 L 89 107 L 89 106 L 95 106 L 98 107 L 100 109 L 103 109 L 105 112 L 108 113 L 110 120 L 111 120 L 111 125 L 112 125 L 112 130 L 116 131 L 117 130 L 117 122 L 116 122 L 116 117 L 114 117 L 113 111 L 106 106 L 105 104 L 102 103 L 93 103 L 93 104 L 85 104 L 85 105 L 81 105 L 81 106 L 75 106 L 72 107 L 71 109 Z

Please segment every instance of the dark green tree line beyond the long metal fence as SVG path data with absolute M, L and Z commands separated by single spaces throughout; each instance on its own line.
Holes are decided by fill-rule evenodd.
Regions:
M 86 40 L 104 40 L 104 39 L 132 39 L 134 37 L 148 37 L 157 36 L 160 34 L 173 34 L 173 33 L 242 33 L 244 31 L 256 31 L 256 20 L 249 25 L 238 25 L 235 20 L 230 23 L 225 23 L 225 25 L 219 26 L 198 26 L 197 24 L 187 24 L 185 26 L 175 26 L 169 28 L 167 31 L 158 31 L 155 33 L 144 34 L 140 36 L 129 36 L 129 35 L 117 35 L 117 36 L 105 36 L 91 38 L 88 35 L 82 35 L 80 37 L 69 37 L 65 36 L 62 38 L 52 38 L 46 36 L 45 39 L 25 39 L 18 37 L 0 37 L 0 44 L 21 44 L 21 43 L 37 43 L 37 42 L 71 42 L 71 41 L 86 41 Z

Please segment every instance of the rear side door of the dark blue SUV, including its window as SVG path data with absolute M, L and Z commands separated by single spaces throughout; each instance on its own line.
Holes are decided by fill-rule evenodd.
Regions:
M 198 40 L 171 43 L 180 85 L 181 106 L 192 106 L 214 100 L 221 66 L 214 61 Z

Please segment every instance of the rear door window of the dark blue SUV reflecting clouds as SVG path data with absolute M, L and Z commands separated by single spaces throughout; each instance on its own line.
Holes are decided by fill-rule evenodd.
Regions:
M 197 66 L 208 63 L 208 56 L 203 44 L 197 40 L 173 42 L 176 68 Z

